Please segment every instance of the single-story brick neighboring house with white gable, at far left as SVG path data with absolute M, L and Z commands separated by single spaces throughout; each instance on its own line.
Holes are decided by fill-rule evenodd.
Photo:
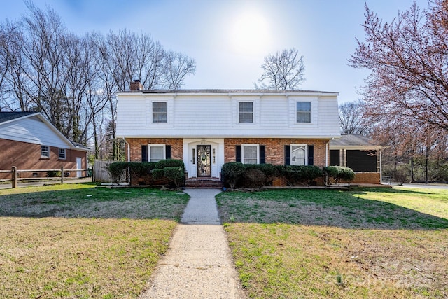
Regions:
M 0 112 L 0 169 L 87 169 L 88 148 L 73 144 L 41 113 Z M 65 172 L 65 171 L 64 171 Z M 46 172 L 22 172 L 20 177 L 43 177 Z M 69 172 L 70 177 L 86 176 Z M 1 174 L 8 179 L 10 174 Z

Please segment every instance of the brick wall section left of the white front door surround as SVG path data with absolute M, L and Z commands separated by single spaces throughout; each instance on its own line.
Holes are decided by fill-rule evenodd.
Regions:
M 130 145 L 130 161 L 132 162 L 141 162 L 141 146 L 148 144 L 171 146 L 171 158 L 183 160 L 183 139 L 181 138 L 130 138 L 126 141 Z

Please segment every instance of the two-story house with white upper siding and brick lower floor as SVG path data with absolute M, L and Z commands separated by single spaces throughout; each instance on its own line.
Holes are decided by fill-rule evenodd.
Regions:
M 337 92 L 138 87 L 118 93 L 127 160 L 180 159 L 188 178 L 219 178 L 232 161 L 324 167 L 340 137 Z

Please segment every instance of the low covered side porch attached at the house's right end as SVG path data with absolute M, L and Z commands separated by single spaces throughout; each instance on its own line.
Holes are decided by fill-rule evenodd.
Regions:
M 342 134 L 340 139 L 330 141 L 330 165 L 350 167 L 356 172 L 351 183 L 374 183 L 382 181 L 383 146 L 362 135 Z

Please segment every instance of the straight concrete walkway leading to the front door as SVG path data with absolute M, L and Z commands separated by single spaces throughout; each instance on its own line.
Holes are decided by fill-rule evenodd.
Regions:
M 219 221 L 220 190 L 187 189 L 190 201 L 141 298 L 246 298 Z

